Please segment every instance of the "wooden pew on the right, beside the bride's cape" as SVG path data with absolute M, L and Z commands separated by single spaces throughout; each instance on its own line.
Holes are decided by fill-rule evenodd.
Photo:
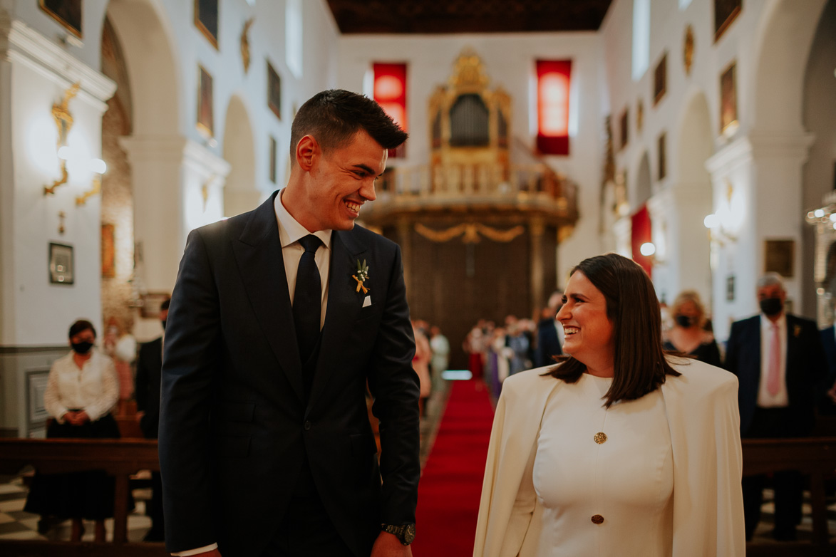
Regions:
M 829 555 L 836 546 L 829 543 L 824 479 L 836 471 L 836 437 L 798 439 L 743 439 L 743 475 L 752 476 L 781 470 L 800 470 L 810 478 L 813 508 L 813 544 L 747 544 L 747 555 Z M 836 532 L 833 533 L 836 535 Z

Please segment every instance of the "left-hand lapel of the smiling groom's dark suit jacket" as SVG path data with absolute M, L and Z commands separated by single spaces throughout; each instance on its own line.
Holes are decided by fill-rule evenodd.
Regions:
M 277 192 L 278 193 L 278 192 Z M 268 338 L 279 366 L 300 400 L 304 399 L 293 309 L 284 272 L 273 201 L 276 193 L 252 211 L 247 226 L 232 248 L 252 311 Z

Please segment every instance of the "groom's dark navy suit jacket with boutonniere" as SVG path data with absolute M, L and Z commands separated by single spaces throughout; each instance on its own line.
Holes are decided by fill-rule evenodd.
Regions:
M 368 555 L 380 524 L 415 522 L 418 377 L 400 248 L 369 230 L 334 230 L 328 311 L 303 392 L 273 196 L 193 230 L 166 327 L 160 463 L 166 547 L 212 542 L 261 554 L 287 512 L 307 454 L 339 534 Z M 371 305 L 356 291 L 367 261 Z M 382 455 L 365 403 L 380 418 Z M 382 475 L 382 484 L 381 484 Z

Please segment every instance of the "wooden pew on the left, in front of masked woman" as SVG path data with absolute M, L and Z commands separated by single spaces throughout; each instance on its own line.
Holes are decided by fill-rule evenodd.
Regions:
M 167 555 L 161 544 L 128 544 L 128 489 L 139 470 L 160 469 L 155 439 L 19 439 L 0 438 L 0 473 L 16 474 L 32 465 L 42 473 L 104 470 L 115 478 L 112 544 L 0 539 L 0 554 Z

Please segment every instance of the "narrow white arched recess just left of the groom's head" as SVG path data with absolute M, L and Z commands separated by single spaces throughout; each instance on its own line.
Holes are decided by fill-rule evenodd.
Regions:
M 255 209 L 261 199 L 256 186 L 255 146 L 247 107 L 237 95 L 227 105 L 223 158 L 230 164 L 223 189 L 223 214 L 238 215 Z

